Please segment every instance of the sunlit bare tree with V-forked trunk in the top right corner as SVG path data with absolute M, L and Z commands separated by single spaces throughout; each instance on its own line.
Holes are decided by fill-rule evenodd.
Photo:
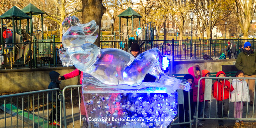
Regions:
M 233 9 L 236 19 L 244 34 L 244 39 L 246 39 L 248 38 L 248 32 L 255 13 L 255 0 L 233 0 L 233 2 Z

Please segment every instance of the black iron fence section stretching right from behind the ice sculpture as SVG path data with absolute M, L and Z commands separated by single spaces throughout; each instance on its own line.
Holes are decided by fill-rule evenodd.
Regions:
M 119 48 L 130 52 L 129 47 L 133 42 L 140 45 L 140 52 L 145 52 L 151 48 L 158 48 L 163 55 L 173 55 L 174 60 L 189 59 L 221 59 L 220 55 L 225 54 L 226 58 L 236 58 L 239 53 L 239 45 L 251 42 L 252 50 L 256 50 L 254 39 L 199 39 L 199 40 L 130 40 L 130 41 L 100 41 L 100 48 Z M 233 51 L 228 50 L 228 42 Z M 231 46 L 230 46 L 231 47 Z M 234 56 L 228 52 L 233 52 Z

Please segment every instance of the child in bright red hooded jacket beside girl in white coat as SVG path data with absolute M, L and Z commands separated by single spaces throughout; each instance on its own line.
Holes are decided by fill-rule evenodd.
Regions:
M 226 77 L 226 74 L 223 71 L 219 71 L 217 72 L 216 77 Z M 233 90 L 233 86 L 225 79 L 219 78 L 213 84 L 212 95 L 218 102 L 217 114 L 219 118 L 228 118 L 230 92 Z M 218 122 L 219 126 L 223 126 L 223 120 L 219 120 Z

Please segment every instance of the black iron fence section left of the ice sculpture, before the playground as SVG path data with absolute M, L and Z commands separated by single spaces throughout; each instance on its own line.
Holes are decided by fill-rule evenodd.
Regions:
M 1 58 L 4 60 L 4 65 L 0 69 L 62 66 L 58 52 L 60 48 L 62 43 L 55 42 L 55 38 L 3 43 Z

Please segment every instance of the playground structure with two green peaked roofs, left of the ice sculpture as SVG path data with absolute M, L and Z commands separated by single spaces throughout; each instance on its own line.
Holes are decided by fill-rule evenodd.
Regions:
M 0 68 L 13 68 L 14 64 L 16 67 L 17 65 L 18 67 L 29 65 L 28 67 L 31 68 L 32 65 L 37 67 L 37 63 L 50 66 L 55 62 L 56 46 L 55 43 L 51 43 L 54 39 L 50 40 L 48 37 L 44 40 L 43 14 L 44 12 L 36 6 L 28 4 L 22 10 L 13 6 L 0 16 L 1 26 L 3 26 L 3 19 L 12 20 L 12 29 L 5 38 L 3 37 L 3 27 L 1 27 L 0 44 L 4 51 L 4 65 Z M 41 15 L 42 31 L 33 31 L 33 15 Z M 26 29 L 21 29 L 21 20 L 27 20 Z

